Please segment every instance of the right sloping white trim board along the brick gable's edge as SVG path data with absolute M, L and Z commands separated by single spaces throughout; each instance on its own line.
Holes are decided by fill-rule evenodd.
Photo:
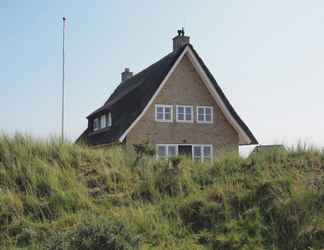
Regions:
M 237 123 L 237 121 L 234 119 L 232 114 L 227 109 L 226 105 L 220 98 L 219 94 L 217 93 L 215 87 L 211 83 L 209 77 L 206 75 L 205 71 L 202 69 L 200 63 L 198 62 L 195 54 L 190 49 L 188 50 L 188 57 L 190 61 L 192 62 L 194 68 L 197 70 L 198 74 L 201 76 L 201 79 L 206 84 L 208 90 L 214 97 L 216 103 L 220 107 L 220 109 L 223 111 L 225 118 L 231 123 L 233 128 L 236 130 L 236 132 L 239 135 L 239 144 L 249 144 L 251 142 L 249 136 L 246 134 L 246 132 L 242 129 L 242 127 Z

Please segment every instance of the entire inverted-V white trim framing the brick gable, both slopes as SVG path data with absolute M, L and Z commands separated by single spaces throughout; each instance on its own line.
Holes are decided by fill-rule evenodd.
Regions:
M 161 89 L 164 87 L 164 85 L 166 84 L 167 80 L 170 78 L 171 74 L 174 72 L 175 68 L 178 66 L 178 64 L 180 63 L 180 61 L 182 60 L 182 58 L 184 57 L 184 55 L 187 52 L 188 52 L 188 57 L 189 57 L 191 63 L 193 64 L 194 68 L 197 70 L 198 74 L 200 75 L 202 81 L 205 83 L 205 85 L 207 86 L 208 90 L 210 91 L 210 93 L 214 97 L 216 103 L 218 104 L 218 106 L 220 107 L 220 109 L 222 110 L 222 112 L 224 113 L 225 118 L 229 121 L 229 123 L 233 126 L 233 128 L 238 133 L 238 135 L 239 135 L 239 144 L 243 144 L 244 145 L 244 144 L 251 143 L 251 140 L 250 140 L 249 136 L 242 129 L 242 127 L 238 124 L 238 122 L 234 119 L 234 117 L 229 112 L 229 110 L 227 109 L 226 105 L 224 104 L 224 102 L 220 98 L 220 96 L 217 93 L 215 87 L 211 83 L 211 81 L 208 78 L 208 76 L 205 73 L 205 71 L 202 69 L 200 63 L 198 62 L 198 60 L 197 60 L 196 56 L 194 55 L 193 51 L 191 50 L 190 46 L 186 46 L 186 48 L 183 50 L 183 52 L 178 57 L 178 59 L 176 60 L 176 62 L 174 63 L 174 65 L 172 66 L 172 68 L 170 69 L 170 71 L 168 72 L 168 74 L 166 75 L 166 77 L 163 79 L 163 81 L 160 84 L 160 86 L 158 87 L 158 89 L 155 91 L 154 95 L 152 96 L 152 98 L 150 99 L 150 101 L 148 102 L 148 104 L 142 110 L 142 112 L 140 113 L 140 115 L 135 119 L 135 121 L 128 127 L 128 129 L 126 129 L 126 131 L 119 138 L 119 141 L 120 142 L 123 142 L 123 140 L 125 139 L 125 137 L 129 133 L 129 131 L 144 116 L 144 114 L 146 113 L 146 111 L 148 110 L 148 108 L 151 106 L 151 104 L 155 100 L 156 96 L 160 93 Z

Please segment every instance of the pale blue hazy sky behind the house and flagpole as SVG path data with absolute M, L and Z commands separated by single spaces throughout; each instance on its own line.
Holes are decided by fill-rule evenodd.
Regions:
M 1 0 L 0 131 L 59 135 L 63 16 L 70 140 L 184 26 L 261 144 L 324 147 L 323 0 Z

